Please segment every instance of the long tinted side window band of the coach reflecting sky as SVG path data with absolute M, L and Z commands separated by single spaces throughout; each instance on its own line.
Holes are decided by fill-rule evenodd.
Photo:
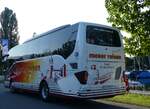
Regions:
M 66 59 L 74 50 L 77 30 L 75 25 L 42 35 L 11 49 L 9 56 L 22 60 L 58 54 Z

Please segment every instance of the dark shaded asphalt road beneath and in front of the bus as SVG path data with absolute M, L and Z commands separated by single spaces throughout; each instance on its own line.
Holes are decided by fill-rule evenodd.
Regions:
M 0 84 L 0 109 L 146 109 L 101 100 L 69 100 L 52 98 L 43 102 L 37 94 L 11 93 Z M 148 109 L 148 108 L 147 108 Z

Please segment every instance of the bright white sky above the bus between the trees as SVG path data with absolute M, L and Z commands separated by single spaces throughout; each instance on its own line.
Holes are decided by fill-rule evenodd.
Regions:
M 20 43 L 53 28 L 80 21 L 111 25 L 107 22 L 105 0 L 0 0 L 16 13 Z

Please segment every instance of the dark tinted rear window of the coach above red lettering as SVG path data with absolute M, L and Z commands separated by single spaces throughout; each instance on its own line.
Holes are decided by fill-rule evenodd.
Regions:
M 120 47 L 121 41 L 117 31 L 97 26 L 87 26 L 86 40 L 88 44 Z

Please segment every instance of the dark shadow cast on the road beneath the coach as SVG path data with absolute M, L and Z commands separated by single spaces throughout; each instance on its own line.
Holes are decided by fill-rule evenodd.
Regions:
M 5 92 L 12 94 L 10 92 Z M 40 102 L 41 104 L 47 105 L 51 107 L 61 107 L 61 109 L 127 109 L 121 106 L 116 106 L 112 104 L 105 104 L 101 102 L 96 102 L 93 100 L 81 100 L 81 99 L 67 99 L 67 98 L 60 98 L 60 97 L 51 97 L 48 102 L 44 102 L 41 100 L 38 94 L 33 93 L 25 93 L 25 92 L 17 92 L 13 93 L 14 96 L 21 96 L 24 99 L 30 99 L 33 102 Z M 43 108 L 44 109 L 44 108 Z M 59 108 L 54 108 L 59 109 Z

